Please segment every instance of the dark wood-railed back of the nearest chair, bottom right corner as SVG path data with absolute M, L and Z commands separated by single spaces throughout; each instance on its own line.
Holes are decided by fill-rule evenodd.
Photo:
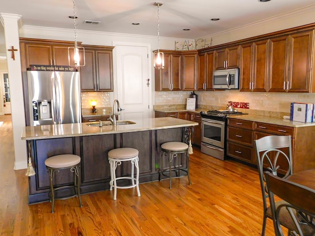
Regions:
M 276 236 L 284 235 L 280 227 L 280 219 L 281 214 L 286 213 L 291 216 L 290 235 L 314 236 L 315 190 L 274 176 L 270 172 L 265 174 Z M 274 195 L 283 199 L 287 204 L 276 206 Z

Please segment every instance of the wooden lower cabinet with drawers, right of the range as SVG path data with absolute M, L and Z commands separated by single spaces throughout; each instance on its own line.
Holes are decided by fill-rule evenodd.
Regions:
M 315 125 L 292 127 L 228 118 L 227 155 L 256 165 L 254 140 L 269 135 L 291 135 L 293 172 L 315 168 Z M 280 172 L 285 168 L 284 164 Z

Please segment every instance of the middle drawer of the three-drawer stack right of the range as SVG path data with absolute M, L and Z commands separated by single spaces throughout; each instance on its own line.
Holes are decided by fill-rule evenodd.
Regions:
M 239 129 L 235 127 L 227 127 L 228 141 L 237 142 L 244 145 L 253 145 L 253 131 L 248 129 Z

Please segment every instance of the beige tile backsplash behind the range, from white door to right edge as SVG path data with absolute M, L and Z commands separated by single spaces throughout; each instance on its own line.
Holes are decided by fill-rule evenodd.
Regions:
M 189 93 L 190 91 L 155 92 L 155 105 L 186 104 Z M 238 90 L 195 91 L 195 93 L 198 95 L 198 107 L 225 107 L 228 101 L 246 102 L 250 104 L 250 110 L 282 114 L 290 113 L 291 102 L 315 103 L 315 93 L 240 92 Z

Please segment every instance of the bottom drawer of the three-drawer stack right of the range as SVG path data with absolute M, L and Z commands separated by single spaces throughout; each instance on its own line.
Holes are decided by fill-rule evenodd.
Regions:
M 247 146 L 227 142 L 227 155 L 252 163 L 252 148 Z

